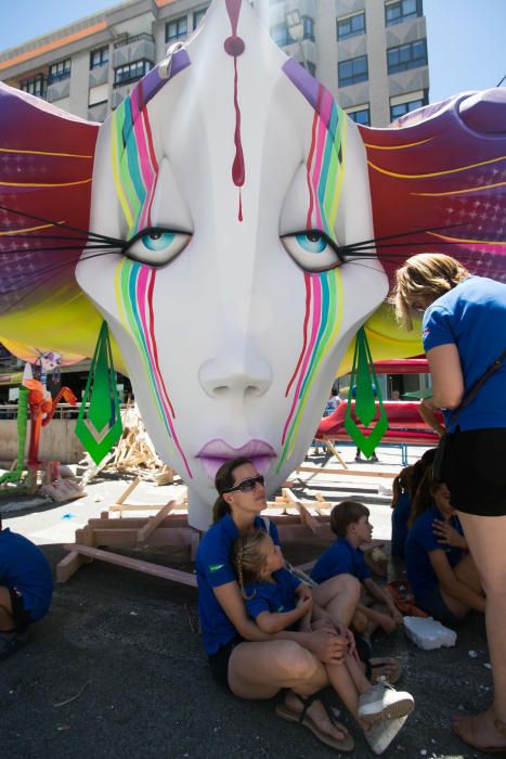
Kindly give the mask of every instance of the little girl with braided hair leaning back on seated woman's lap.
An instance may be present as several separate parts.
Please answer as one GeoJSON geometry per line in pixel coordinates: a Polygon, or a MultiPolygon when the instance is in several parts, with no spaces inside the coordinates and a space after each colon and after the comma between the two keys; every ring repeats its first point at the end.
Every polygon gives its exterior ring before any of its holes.
{"type": "MultiPolygon", "coordinates": [[[[311,590],[285,568],[285,559],[278,545],[263,530],[255,530],[237,538],[232,550],[232,561],[237,581],[249,616],[267,633],[297,629],[301,625],[311,630],[312,617],[321,617],[312,600],[311,590]]],[[[325,622],[328,626],[328,620],[325,622]]],[[[337,634],[337,632],[336,632],[337,634]]],[[[332,686],[348,707],[375,754],[381,754],[402,728],[413,709],[411,694],[398,692],[380,682],[372,685],[360,669],[355,656],[342,641],[342,660],[325,664],[332,686]]],[[[276,713],[293,720],[293,712],[277,706],[276,713]]],[[[336,726],[345,737],[340,750],[352,750],[353,741],[346,728],[336,726]]]]}

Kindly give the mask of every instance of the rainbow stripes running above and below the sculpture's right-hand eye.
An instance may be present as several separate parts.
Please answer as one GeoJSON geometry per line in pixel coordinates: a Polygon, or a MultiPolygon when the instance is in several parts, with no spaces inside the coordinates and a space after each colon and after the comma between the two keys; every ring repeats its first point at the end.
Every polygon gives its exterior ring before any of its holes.
{"type": "MultiPolygon", "coordinates": [[[[309,193],[307,229],[320,229],[337,242],[335,226],[345,175],[347,118],[332,94],[304,69],[285,64],[284,70],[314,108],[306,165],[309,193]]],[[[306,272],[304,286],[302,349],[286,388],[285,395],[288,397],[293,393],[293,401],[283,429],[283,451],[277,472],[294,451],[313,382],[339,337],[342,322],[343,288],[339,269],[306,272]]]]}

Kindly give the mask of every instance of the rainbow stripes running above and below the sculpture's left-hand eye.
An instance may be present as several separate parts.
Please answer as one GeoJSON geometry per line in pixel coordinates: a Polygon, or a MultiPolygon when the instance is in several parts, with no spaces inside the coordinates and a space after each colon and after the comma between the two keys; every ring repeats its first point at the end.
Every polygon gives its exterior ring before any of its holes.
{"type": "MultiPolygon", "coordinates": [[[[128,226],[128,237],[153,226],[152,205],[159,170],[143,102],[142,89],[137,88],[112,114],[113,176],[128,226]]],[[[122,259],[116,269],[116,301],[121,323],[138,347],[144,368],[144,382],[172,442],[173,453],[179,452],[187,476],[192,477],[178,440],[173,424],[176,413],[159,365],[153,308],[156,273],[156,269],[145,263],[122,259]]]]}

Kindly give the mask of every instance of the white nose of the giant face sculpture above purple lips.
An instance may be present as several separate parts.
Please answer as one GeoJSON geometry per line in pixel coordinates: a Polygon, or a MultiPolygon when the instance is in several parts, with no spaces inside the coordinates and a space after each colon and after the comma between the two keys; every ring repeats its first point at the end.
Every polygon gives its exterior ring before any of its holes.
{"type": "Polygon", "coordinates": [[[206,361],[198,372],[202,387],[212,398],[220,396],[261,396],[272,383],[269,363],[252,350],[228,346],[206,361]]]}

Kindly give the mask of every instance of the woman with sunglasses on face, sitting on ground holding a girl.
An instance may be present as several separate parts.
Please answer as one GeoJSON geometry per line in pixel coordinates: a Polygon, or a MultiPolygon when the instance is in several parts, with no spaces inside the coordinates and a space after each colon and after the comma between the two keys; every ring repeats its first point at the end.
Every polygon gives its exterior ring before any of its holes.
{"type": "MultiPolygon", "coordinates": [[[[272,698],[286,689],[283,712],[291,721],[309,728],[333,748],[351,750],[348,731],[329,718],[314,694],[328,685],[325,662],[342,662],[349,647],[347,631],[338,626],[345,634],[336,634],[336,626],[328,621],[325,626],[325,615],[327,620],[346,619],[356,605],[359,582],[341,575],[313,591],[315,602],[324,608],[321,629],[274,634],[260,630],[246,614],[232,546],[255,529],[268,530],[273,542],[280,542],[275,525],[259,516],[267,505],[263,476],[249,459],[238,458],[220,467],[215,484],[219,497],[213,525],[196,556],[200,627],[215,680],[241,698],[272,698]]],[[[382,697],[378,691],[376,699],[382,697]]]]}

